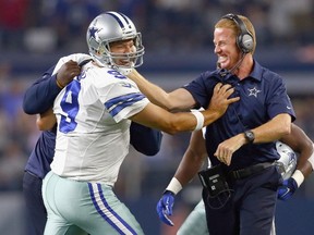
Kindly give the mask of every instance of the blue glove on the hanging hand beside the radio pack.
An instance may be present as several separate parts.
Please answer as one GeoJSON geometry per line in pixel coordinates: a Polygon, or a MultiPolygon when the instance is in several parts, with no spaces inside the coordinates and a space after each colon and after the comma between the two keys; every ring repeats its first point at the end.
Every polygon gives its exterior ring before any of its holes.
{"type": "Polygon", "coordinates": [[[173,203],[174,194],[166,190],[156,207],[159,219],[169,226],[173,226],[173,222],[168,218],[168,215],[172,215],[173,203]]]}

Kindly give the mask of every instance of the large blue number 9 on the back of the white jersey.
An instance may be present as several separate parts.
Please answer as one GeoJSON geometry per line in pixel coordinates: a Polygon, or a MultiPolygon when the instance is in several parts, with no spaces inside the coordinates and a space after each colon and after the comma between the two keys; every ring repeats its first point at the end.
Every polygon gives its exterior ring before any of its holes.
{"type": "Polygon", "coordinates": [[[81,83],[74,79],[67,86],[65,89],[65,94],[60,102],[60,107],[64,113],[61,115],[59,123],[59,131],[62,133],[72,132],[77,126],[75,116],[77,115],[80,109],[78,92],[81,90],[81,83]]]}

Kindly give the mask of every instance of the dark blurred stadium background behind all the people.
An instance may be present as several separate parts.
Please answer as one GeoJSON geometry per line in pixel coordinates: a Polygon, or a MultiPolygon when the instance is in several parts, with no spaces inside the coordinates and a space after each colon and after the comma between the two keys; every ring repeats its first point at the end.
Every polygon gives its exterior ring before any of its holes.
{"type": "MultiPolygon", "coordinates": [[[[227,13],[255,26],[255,59],[281,74],[297,124],[314,139],[313,0],[0,0],[0,231],[25,235],[22,176],[38,137],[36,116],[26,115],[26,87],[60,57],[87,52],[85,33],[102,11],[129,15],[142,33],[146,54],[138,70],[167,90],[214,70],[213,27],[227,13]]],[[[155,157],[132,147],[116,185],[148,235],[172,235],[201,198],[195,178],[174,205],[174,227],[160,224],[155,207],[189,145],[190,134],[164,135],[155,157]],[[128,166],[126,166],[128,165],[128,166]]],[[[277,234],[310,235],[314,225],[314,177],[295,196],[278,202],[277,234]]],[[[228,223],[228,221],[226,221],[228,223]]]]}

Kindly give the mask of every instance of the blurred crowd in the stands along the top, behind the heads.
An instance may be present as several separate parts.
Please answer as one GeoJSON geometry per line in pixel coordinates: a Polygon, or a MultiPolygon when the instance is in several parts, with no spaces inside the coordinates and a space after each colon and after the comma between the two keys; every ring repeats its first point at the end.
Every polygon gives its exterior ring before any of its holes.
{"type": "Polygon", "coordinates": [[[210,27],[226,12],[252,20],[258,47],[301,47],[314,39],[309,30],[314,28],[312,0],[0,0],[0,4],[1,51],[77,51],[85,47],[82,37],[88,22],[108,10],[133,18],[149,51],[212,46],[210,27]]]}

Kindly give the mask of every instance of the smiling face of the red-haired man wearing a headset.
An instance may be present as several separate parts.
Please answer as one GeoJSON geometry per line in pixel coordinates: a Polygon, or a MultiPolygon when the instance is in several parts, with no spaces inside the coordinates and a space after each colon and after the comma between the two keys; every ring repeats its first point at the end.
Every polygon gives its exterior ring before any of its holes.
{"type": "Polygon", "coordinates": [[[230,28],[215,28],[214,46],[214,52],[218,57],[217,63],[221,69],[231,70],[241,58],[234,33],[230,28]]]}

